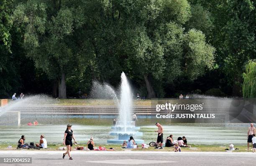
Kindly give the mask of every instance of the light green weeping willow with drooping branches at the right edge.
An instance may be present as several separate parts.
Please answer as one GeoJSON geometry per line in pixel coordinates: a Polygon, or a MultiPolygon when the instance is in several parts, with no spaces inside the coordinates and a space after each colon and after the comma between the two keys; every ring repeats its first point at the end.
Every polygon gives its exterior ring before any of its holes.
{"type": "Polygon", "coordinates": [[[243,97],[256,98],[256,61],[249,60],[243,73],[243,97]]]}

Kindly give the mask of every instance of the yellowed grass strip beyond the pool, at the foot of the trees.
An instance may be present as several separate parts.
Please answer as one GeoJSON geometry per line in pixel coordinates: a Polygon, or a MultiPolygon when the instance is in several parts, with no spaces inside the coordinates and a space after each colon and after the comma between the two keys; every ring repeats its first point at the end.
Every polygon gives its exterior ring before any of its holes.
{"type": "MultiPolygon", "coordinates": [[[[8,99],[8,103],[13,103],[8,99]]],[[[36,104],[36,103],[31,103],[36,104]]],[[[40,103],[41,104],[41,103],[40,103]]],[[[114,106],[117,105],[115,100],[109,99],[52,99],[44,102],[47,105],[83,105],[83,106],[114,106]]],[[[133,100],[135,106],[151,106],[151,100],[133,100]]]]}

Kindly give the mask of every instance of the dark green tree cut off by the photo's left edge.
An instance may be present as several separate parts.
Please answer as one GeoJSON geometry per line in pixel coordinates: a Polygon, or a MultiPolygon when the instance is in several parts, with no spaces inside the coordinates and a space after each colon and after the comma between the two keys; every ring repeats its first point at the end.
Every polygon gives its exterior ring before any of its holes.
{"type": "Polygon", "coordinates": [[[0,1],[0,96],[8,97],[19,86],[15,56],[11,53],[13,0],[0,1]]]}

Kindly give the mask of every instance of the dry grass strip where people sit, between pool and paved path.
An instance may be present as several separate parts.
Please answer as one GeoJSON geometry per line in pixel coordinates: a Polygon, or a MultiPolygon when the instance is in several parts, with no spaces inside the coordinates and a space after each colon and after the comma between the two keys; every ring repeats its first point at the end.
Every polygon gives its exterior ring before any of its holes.
{"type": "MultiPolygon", "coordinates": [[[[83,146],[83,147],[87,147],[86,144],[79,144],[79,146],[83,146]]],[[[125,150],[129,150],[129,151],[173,151],[174,147],[164,147],[164,149],[155,149],[154,147],[149,147],[149,148],[137,148],[137,149],[123,149],[121,148],[121,145],[116,145],[116,144],[95,144],[95,147],[99,147],[99,146],[105,146],[105,148],[109,149],[109,148],[114,148],[115,151],[125,151],[125,150]]],[[[0,150],[16,150],[17,144],[0,144],[0,150]],[[11,145],[13,148],[8,149],[7,146],[11,145]]],[[[49,144],[47,149],[40,149],[41,151],[63,151],[63,150],[59,150],[59,147],[63,147],[63,145],[61,144],[49,144]]],[[[73,146],[74,147],[74,146],[73,146]]],[[[225,152],[225,148],[228,148],[227,146],[223,146],[223,145],[191,145],[191,149],[190,148],[181,148],[182,151],[191,151],[191,152],[225,152]]],[[[239,150],[235,150],[233,152],[252,152],[247,151],[247,145],[243,146],[243,145],[238,145],[235,146],[235,148],[239,148],[239,150]]],[[[27,149],[28,150],[28,149],[27,149]]],[[[36,150],[36,149],[29,149],[29,150],[36,150]]]]}

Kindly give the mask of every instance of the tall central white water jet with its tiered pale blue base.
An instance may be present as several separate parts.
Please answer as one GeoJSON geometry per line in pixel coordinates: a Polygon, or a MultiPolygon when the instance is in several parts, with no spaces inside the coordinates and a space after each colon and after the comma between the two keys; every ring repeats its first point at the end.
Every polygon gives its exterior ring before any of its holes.
{"type": "Polygon", "coordinates": [[[121,86],[120,86],[120,99],[118,102],[118,122],[116,126],[111,127],[113,131],[110,132],[110,135],[116,136],[115,139],[107,140],[108,143],[123,143],[123,141],[128,141],[130,136],[135,137],[136,143],[143,143],[141,139],[136,137],[142,136],[142,132],[138,132],[140,127],[135,127],[131,122],[132,114],[132,94],[131,89],[128,83],[128,80],[125,76],[125,73],[121,74],[121,86]]]}

